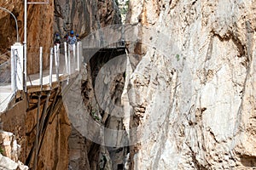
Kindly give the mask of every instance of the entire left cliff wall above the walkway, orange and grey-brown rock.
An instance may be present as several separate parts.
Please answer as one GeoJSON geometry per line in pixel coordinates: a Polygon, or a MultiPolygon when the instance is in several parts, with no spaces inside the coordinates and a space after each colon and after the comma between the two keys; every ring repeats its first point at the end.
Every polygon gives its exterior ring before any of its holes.
{"type": "MultiPolygon", "coordinates": [[[[30,2],[30,1],[28,1],[30,2]]],[[[27,71],[38,72],[39,47],[43,47],[44,68],[49,65],[49,48],[53,47],[54,34],[64,37],[73,29],[82,38],[90,31],[120,22],[115,1],[49,0],[47,4],[27,5],[27,71]]],[[[20,42],[24,41],[24,3],[18,0],[0,2],[0,7],[12,12],[18,22],[20,42]],[[14,5],[15,4],[15,5],[14,5]]],[[[15,20],[0,9],[0,63],[10,58],[10,46],[16,40],[15,20]]]]}

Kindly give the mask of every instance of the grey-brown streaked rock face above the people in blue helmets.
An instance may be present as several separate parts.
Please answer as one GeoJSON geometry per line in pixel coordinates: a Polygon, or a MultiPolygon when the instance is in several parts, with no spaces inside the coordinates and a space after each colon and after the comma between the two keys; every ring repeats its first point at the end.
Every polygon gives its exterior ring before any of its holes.
{"type": "Polygon", "coordinates": [[[73,30],[81,38],[101,27],[120,23],[115,1],[55,1],[55,32],[64,37],[73,30]]]}

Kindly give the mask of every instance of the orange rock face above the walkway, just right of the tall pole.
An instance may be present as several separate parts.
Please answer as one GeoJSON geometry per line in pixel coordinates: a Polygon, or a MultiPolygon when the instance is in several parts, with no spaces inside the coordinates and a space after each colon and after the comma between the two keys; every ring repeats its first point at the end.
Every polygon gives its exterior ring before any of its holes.
{"type": "MultiPolygon", "coordinates": [[[[44,1],[41,1],[44,2],[44,1]]],[[[46,2],[46,1],[45,1],[46,2]]],[[[49,48],[53,46],[54,1],[27,5],[27,71],[39,71],[39,48],[43,47],[44,68],[49,65],[49,48]]],[[[23,33],[22,33],[23,34],[23,33]]]]}

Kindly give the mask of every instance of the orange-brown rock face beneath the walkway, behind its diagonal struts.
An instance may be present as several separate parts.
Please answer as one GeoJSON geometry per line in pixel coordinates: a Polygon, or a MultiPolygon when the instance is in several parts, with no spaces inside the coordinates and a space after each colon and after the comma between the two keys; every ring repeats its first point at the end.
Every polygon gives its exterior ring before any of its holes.
{"type": "MultiPolygon", "coordinates": [[[[49,105],[46,105],[45,102],[40,105],[40,122],[37,121],[38,108],[33,109],[32,104],[28,108],[25,162],[31,168],[67,169],[68,167],[68,138],[71,133],[71,124],[62,100],[57,96],[60,94],[55,89],[50,94],[49,105]],[[44,110],[45,112],[43,112],[44,110]],[[38,150],[38,154],[36,154],[36,150],[38,150]]],[[[37,100],[32,102],[36,103],[37,100]]]]}

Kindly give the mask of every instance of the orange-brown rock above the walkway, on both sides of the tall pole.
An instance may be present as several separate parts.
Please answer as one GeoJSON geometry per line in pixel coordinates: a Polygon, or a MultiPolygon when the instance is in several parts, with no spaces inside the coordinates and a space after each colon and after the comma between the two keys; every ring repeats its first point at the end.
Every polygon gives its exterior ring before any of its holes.
{"type": "MultiPolygon", "coordinates": [[[[28,1],[29,2],[29,1],[28,1]]],[[[20,42],[24,41],[24,3],[23,1],[1,1],[0,6],[8,9],[15,15],[19,27],[20,42]]],[[[13,16],[0,11],[0,52],[5,54],[16,40],[16,25],[13,16]]],[[[49,47],[52,46],[54,23],[54,1],[49,0],[48,4],[27,5],[27,72],[32,74],[38,72],[39,47],[43,47],[44,68],[49,65],[49,47]],[[46,29],[47,28],[47,29],[46,29]]],[[[1,56],[3,58],[4,56],[1,56]]],[[[9,59],[10,54],[4,57],[9,59]]]]}

